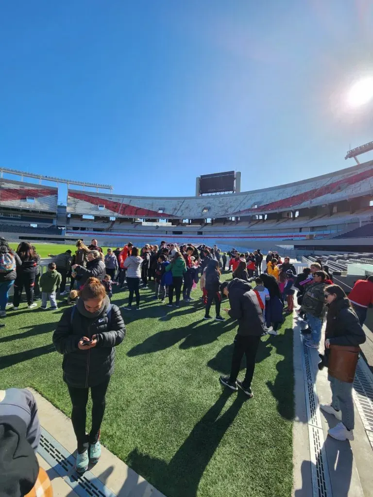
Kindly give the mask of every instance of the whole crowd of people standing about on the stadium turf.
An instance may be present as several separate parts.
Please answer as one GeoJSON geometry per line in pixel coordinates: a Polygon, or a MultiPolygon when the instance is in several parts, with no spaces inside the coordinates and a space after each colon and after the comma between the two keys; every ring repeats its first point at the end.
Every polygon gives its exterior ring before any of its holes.
{"type": "Polygon", "coordinates": [[[62,314],[53,343],[64,355],[63,379],[72,402],[72,423],[78,444],[77,471],[86,471],[89,461],[100,457],[99,430],[113,372],[115,346],[126,333],[121,310],[110,302],[113,288],[128,290],[128,303],[123,310],[140,310],[140,290],[148,289],[152,280],[154,300],[175,308],[180,307],[181,299],[186,304],[195,301],[197,306],[204,306],[206,321],[212,319],[213,303],[215,320],[225,321],[221,304],[222,299],[228,299],[229,308],[224,308],[224,312],[238,322],[238,329],[230,375],[220,376],[220,382],[233,391],[240,388],[249,398],[254,395],[251,384],[261,336],[279,333],[284,316],[295,310],[296,293],[297,319],[303,322],[306,347],[319,349],[322,327],[326,323],[319,368],[328,367],[332,401],[320,408],[340,420],[329,429],[329,434],[338,440],[353,440],[352,384],[359,345],[366,339],[362,325],[368,307],[373,304],[373,276],[358,280],[348,298],[344,290],[334,284],[329,268],[323,266],[321,260],[297,274],[288,256],[282,261],[278,253],[269,252],[264,261],[259,249],[243,253],[232,248],[222,252],[217,246],[185,244],[178,247],[162,241],[160,246],[146,244],[141,249],[128,243],[123,248],[108,248],[104,254],[95,239],[88,247],[79,240],[76,248],[75,254],[66,250],[54,255],[54,262],[37,278],[40,256],[35,247],[21,242],[12,250],[0,239],[0,317],[6,316],[12,285],[12,309],[15,310],[23,287],[28,309],[36,307],[37,291],[41,293],[42,310],[47,308],[48,300],[50,309],[57,309],[57,292],[60,296],[68,295],[67,303],[73,304],[62,314]],[[221,278],[227,271],[232,278],[221,278]],[[66,291],[68,277],[69,292],[66,291]],[[198,282],[202,296],[196,300],[191,295],[198,282]],[[136,305],[132,307],[134,298],[136,305]],[[246,374],[241,381],[238,375],[243,355],[246,356],[246,374]],[[85,420],[90,389],[92,428],[87,435],[85,420]]]}

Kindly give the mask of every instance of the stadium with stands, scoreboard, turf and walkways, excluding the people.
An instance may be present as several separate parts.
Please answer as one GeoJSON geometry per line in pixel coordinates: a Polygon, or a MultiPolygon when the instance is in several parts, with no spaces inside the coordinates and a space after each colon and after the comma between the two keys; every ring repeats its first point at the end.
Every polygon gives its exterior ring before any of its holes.
{"type": "MultiPolygon", "coordinates": [[[[49,252],[75,251],[78,240],[89,245],[93,239],[102,248],[161,241],[217,245],[221,251],[260,248],[288,255],[297,273],[316,261],[329,266],[346,293],[373,274],[373,161],[260,190],[241,192],[240,184],[241,174],[228,171],[198,177],[194,196],[145,197],[114,193],[109,184],[0,168],[0,237],[13,248],[20,241],[35,244],[41,274],[57,261],[46,257],[49,252]]],[[[230,269],[220,279],[231,281],[230,269]]],[[[219,383],[219,375],[230,371],[236,321],[229,315],[220,316],[221,323],[206,321],[199,286],[181,305],[165,305],[155,287],[153,281],[141,287],[140,312],[122,313],[127,334],[116,347],[99,432],[102,457],[84,474],[75,471],[76,439],[66,417],[72,416],[71,400],[62,381],[62,356],[52,344],[69,312],[64,297],[69,292],[60,288],[56,307],[21,300],[19,307],[9,303],[1,316],[6,318],[1,385],[31,389],[41,422],[38,457],[57,495],[290,496],[300,488],[302,496],[342,495],[341,488],[350,488],[346,496],[368,495],[363,491],[371,487],[373,454],[371,309],[354,381],[360,415],[355,429],[365,445],[352,446],[352,462],[347,442],[335,454],[328,444],[329,425],[319,409],[330,397],[327,373],[319,372],[319,350],[307,348],[304,323],[295,312],[281,311],[280,329],[262,335],[255,399],[245,403],[242,392],[231,395],[219,383]]],[[[9,294],[12,299],[13,288],[9,294]]],[[[111,298],[119,313],[128,311],[129,285],[113,287],[111,298]]]]}

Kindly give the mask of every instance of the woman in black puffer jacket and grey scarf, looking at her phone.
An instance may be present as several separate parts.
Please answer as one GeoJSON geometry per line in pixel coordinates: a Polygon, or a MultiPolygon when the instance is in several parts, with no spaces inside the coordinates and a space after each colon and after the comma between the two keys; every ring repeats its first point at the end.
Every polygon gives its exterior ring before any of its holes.
{"type": "Polygon", "coordinates": [[[53,344],[61,354],[63,379],[73,404],[71,420],[78,442],[76,469],[83,473],[89,457],[101,455],[99,431],[105,411],[105,394],[114,371],[114,347],[125,336],[119,308],[110,304],[105,288],[97,278],[89,278],[78,303],[63,313],[53,344]],[[92,397],[92,428],[86,435],[86,407],[89,389],[92,397]],[[88,454],[90,449],[90,455],[88,454]]]}

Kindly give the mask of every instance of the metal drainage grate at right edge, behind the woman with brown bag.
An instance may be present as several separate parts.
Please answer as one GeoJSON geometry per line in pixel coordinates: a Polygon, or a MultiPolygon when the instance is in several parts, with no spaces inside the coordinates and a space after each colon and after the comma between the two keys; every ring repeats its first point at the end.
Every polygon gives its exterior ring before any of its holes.
{"type": "Polygon", "coordinates": [[[371,372],[360,358],[354,380],[354,401],[373,449],[373,381],[371,372]]]}

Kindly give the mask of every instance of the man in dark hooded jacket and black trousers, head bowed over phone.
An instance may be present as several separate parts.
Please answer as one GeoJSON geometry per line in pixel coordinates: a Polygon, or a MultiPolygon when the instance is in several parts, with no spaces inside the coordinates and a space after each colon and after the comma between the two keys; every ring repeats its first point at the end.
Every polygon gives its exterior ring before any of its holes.
{"type": "Polygon", "coordinates": [[[234,339],[232,367],[230,376],[220,376],[220,382],[231,390],[240,387],[248,397],[253,397],[251,382],[255,369],[255,356],[264,331],[262,309],[257,294],[249,283],[235,278],[220,286],[223,295],[229,298],[230,309],[225,309],[229,316],[238,321],[238,330],[234,339]],[[246,355],[246,375],[244,381],[237,380],[241,360],[246,355]]]}

